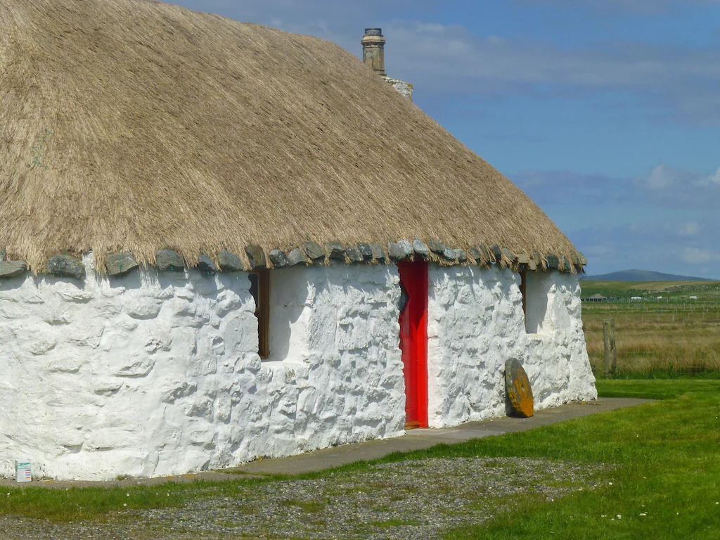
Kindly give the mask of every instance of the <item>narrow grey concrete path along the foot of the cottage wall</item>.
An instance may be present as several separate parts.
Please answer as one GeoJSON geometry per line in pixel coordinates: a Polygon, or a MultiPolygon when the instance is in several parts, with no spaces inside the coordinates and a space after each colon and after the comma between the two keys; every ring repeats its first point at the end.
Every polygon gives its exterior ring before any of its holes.
{"type": "Polygon", "coordinates": [[[455,428],[413,429],[404,436],[381,441],[346,444],[317,450],[300,456],[279,459],[259,459],[258,461],[217,471],[183,474],[174,477],[112,480],[109,482],[69,482],[40,480],[18,484],[11,479],[0,480],[5,487],[48,487],[66,489],[68,487],[129,487],[133,485],[154,485],[163,482],[197,482],[202,480],[237,480],[243,477],[258,477],[267,474],[302,474],[320,471],[330,467],[339,467],[361,460],[378,459],[395,451],[410,451],[430,448],[436,444],[456,444],[472,438],[502,435],[513,431],[526,431],[539,426],[580,418],[595,413],[604,413],[624,407],[633,407],[652,402],[621,397],[601,397],[596,401],[572,402],[559,407],[538,410],[531,418],[493,418],[482,422],[470,422],[455,428]]]}

